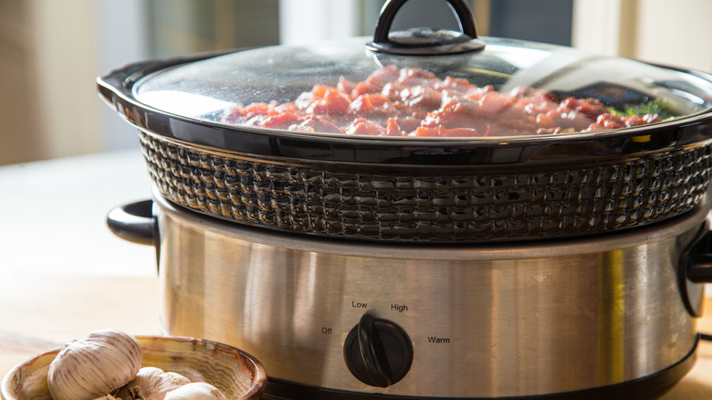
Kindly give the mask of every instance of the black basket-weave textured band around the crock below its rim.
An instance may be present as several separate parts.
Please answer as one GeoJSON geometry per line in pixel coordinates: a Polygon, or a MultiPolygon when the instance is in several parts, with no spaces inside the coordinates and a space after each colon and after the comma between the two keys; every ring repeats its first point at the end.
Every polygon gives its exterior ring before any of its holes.
{"type": "Polygon", "coordinates": [[[140,131],[162,195],[253,226],[391,241],[570,237],[641,226],[699,203],[709,146],[547,173],[360,174],[213,153],[140,131]]]}

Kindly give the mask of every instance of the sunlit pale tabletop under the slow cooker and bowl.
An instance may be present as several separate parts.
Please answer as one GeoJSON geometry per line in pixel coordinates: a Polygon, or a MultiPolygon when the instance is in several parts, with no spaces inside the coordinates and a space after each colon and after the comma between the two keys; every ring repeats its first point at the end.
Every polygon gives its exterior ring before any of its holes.
{"type": "MultiPolygon", "coordinates": [[[[112,206],[150,196],[138,151],[0,167],[0,187],[0,376],[98,329],[161,333],[152,247],[113,237],[104,222],[112,206]]],[[[712,332],[712,298],[700,331],[712,332]]],[[[662,397],[704,398],[712,342],[662,397]]]]}

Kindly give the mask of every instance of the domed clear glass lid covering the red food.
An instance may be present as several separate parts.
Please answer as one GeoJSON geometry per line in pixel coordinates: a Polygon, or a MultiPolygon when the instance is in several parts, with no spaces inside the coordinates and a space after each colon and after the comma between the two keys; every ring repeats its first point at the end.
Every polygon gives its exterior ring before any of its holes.
{"type": "Polygon", "coordinates": [[[133,96],[159,111],[236,129],[371,138],[602,132],[712,107],[712,82],[702,74],[571,47],[480,39],[484,48],[455,54],[389,54],[374,49],[371,37],[238,51],[153,73],[134,85],[133,96]]]}

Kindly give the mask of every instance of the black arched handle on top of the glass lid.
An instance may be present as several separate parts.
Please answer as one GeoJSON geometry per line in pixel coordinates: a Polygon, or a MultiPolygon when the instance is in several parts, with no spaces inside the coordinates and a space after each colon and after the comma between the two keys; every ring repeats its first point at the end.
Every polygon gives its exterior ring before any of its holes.
{"type": "Polygon", "coordinates": [[[403,56],[443,56],[480,51],[485,42],[477,38],[475,16],[465,0],[445,0],[455,12],[461,32],[414,27],[391,32],[393,18],[408,0],[388,0],[376,22],[373,41],[367,47],[376,53],[403,56]]]}

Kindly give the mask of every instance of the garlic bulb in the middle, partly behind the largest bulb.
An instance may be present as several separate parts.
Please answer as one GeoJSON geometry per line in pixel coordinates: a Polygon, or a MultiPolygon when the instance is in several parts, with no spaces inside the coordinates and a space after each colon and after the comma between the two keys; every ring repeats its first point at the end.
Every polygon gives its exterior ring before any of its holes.
{"type": "Polygon", "coordinates": [[[190,384],[181,374],[164,373],[155,367],[143,367],[136,377],[114,394],[123,400],[163,400],[163,397],[184,384],[190,384]]]}

